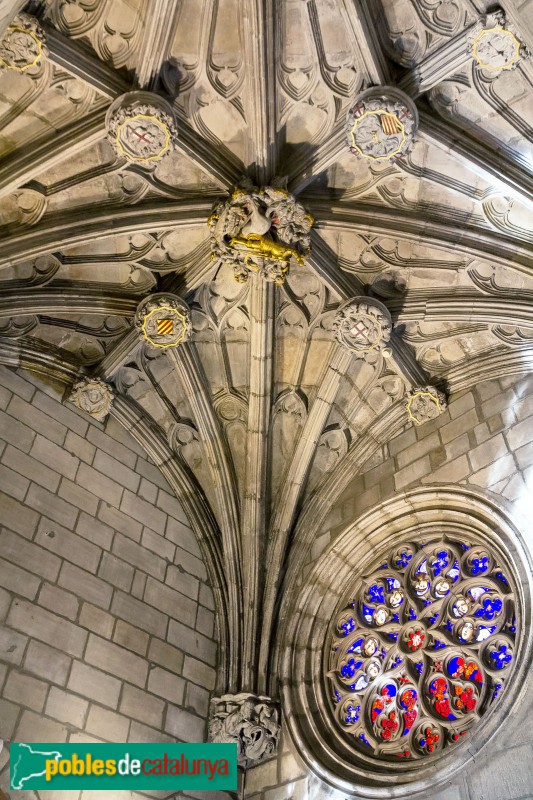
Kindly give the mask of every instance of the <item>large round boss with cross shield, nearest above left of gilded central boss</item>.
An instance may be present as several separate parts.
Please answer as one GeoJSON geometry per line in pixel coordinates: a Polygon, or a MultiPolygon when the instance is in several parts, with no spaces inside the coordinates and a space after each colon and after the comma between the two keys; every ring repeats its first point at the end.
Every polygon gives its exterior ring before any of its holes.
{"type": "Polygon", "coordinates": [[[168,155],[178,136],[170,105],[149,92],[129,92],[117,98],[107,117],[108,138],[119,156],[150,165],[168,155]]]}

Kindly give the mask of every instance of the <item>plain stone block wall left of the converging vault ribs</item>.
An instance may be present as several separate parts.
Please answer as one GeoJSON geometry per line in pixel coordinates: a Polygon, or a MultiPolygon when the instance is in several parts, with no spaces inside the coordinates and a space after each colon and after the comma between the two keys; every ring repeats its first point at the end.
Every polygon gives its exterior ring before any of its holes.
{"type": "Polygon", "coordinates": [[[114,420],[6,367],[0,396],[0,738],[203,739],[213,596],[172,490],[114,420]]]}

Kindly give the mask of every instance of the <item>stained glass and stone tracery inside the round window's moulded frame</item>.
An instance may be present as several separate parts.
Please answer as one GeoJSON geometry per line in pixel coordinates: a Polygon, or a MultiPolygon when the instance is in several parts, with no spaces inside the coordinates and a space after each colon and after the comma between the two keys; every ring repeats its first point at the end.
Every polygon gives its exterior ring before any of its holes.
{"type": "Polygon", "coordinates": [[[385,761],[449,748],[498,702],[516,636],[511,576],[485,545],[406,542],[336,617],[327,653],[336,722],[385,761]]]}

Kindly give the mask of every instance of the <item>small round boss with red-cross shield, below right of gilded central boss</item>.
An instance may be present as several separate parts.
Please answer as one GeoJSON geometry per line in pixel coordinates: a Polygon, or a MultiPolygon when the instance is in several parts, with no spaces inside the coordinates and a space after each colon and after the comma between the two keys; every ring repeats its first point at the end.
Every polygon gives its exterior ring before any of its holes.
{"type": "Polygon", "coordinates": [[[356,297],[337,310],[333,331],[339,344],[364,358],[371,351],[385,351],[392,322],[383,303],[371,297],[356,297]]]}

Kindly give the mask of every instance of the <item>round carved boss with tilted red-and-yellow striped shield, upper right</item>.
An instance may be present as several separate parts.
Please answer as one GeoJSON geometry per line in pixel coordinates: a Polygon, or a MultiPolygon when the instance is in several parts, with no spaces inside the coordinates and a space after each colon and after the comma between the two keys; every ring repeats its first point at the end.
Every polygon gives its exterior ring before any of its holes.
{"type": "Polygon", "coordinates": [[[394,161],[407,152],[418,112],[406,94],[391,86],[367,89],[348,111],[348,145],[354,155],[394,161]]]}

